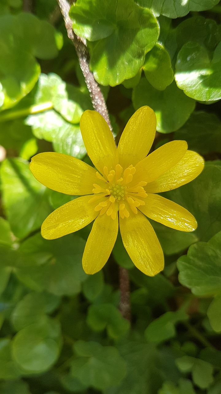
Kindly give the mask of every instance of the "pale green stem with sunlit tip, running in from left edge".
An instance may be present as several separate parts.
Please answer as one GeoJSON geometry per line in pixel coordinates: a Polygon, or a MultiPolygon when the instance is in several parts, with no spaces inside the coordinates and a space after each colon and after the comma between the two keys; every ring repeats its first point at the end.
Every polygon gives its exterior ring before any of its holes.
{"type": "Polygon", "coordinates": [[[44,112],[51,110],[53,108],[52,102],[44,102],[42,104],[32,105],[28,108],[23,108],[22,110],[8,111],[7,113],[0,114],[0,123],[5,121],[10,121],[17,118],[22,118],[34,113],[44,112]]]}

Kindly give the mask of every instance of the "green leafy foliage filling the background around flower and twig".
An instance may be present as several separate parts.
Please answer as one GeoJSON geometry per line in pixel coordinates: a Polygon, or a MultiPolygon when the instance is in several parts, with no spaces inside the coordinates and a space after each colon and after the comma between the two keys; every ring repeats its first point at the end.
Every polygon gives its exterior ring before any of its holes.
{"type": "Polygon", "coordinates": [[[147,105],[152,150],[185,140],[206,162],[164,193],[198,227],[151,221],[165,269],[147,277],[120,232],[95,275],[82,268],[92,224],[42,238],[44,219],[75,197],[40,184],[30,158],[55,151],[92,165],[79,121],[93,107],[56,0],[31,1],[31,12],[25,1],[0,3],[0,392],[220,394],[221,4],[77,0],[70,10],[116,141],[147,105]],[[129,271],[131,323],[119,310],[119,267],[129,271]]]}

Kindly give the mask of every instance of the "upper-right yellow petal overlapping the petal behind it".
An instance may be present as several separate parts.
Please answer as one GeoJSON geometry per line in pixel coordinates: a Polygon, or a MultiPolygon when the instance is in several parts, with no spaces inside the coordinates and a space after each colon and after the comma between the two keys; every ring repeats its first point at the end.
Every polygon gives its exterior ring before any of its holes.
{"type": "Polygon", "coordinates": [[[135,166],[133,182],[152,182],[176,165],[186,151],[186,141],[170,141],[162,145],[135,166]]]}

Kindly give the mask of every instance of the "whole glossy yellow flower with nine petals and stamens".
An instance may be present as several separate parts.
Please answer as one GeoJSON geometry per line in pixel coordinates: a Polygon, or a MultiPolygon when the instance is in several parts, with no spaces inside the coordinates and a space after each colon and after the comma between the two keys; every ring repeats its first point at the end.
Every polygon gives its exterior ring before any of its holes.
{"type": "Polygon", "coordinates": [[[164,256],[147,217],[181,231],[193,231],[197,223],[186,209],[155,193],[178,188],[197,177],[203,158],[187,151],[185,141],[168,142],[147,156],[156,132],[155,113],[147,106],[128,121],[118,148],[98,112],[85,111],[80,127],[96,169],[61,153],[45,152],[32,158],[30,169],[39,182],[52,190],[81,196],[45,219],[42,236],[59,238],[95,219],[82,259],[85,272],[93,274],[110,256],[119,212],[127,253],[142,272],[156,275],[164,268],[164,256]]]}

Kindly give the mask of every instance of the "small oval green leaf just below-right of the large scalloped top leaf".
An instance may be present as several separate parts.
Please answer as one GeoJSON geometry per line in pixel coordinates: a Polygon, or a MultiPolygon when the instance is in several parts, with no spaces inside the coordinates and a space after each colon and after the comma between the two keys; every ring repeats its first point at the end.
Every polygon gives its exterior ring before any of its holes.
{"type": "Polygon", "coordinates": [[[146,54],[143,70],[148,82],[158,90],[165,90],[173,82],[170,57],[163,45],[156,44],[146,54]]]}

